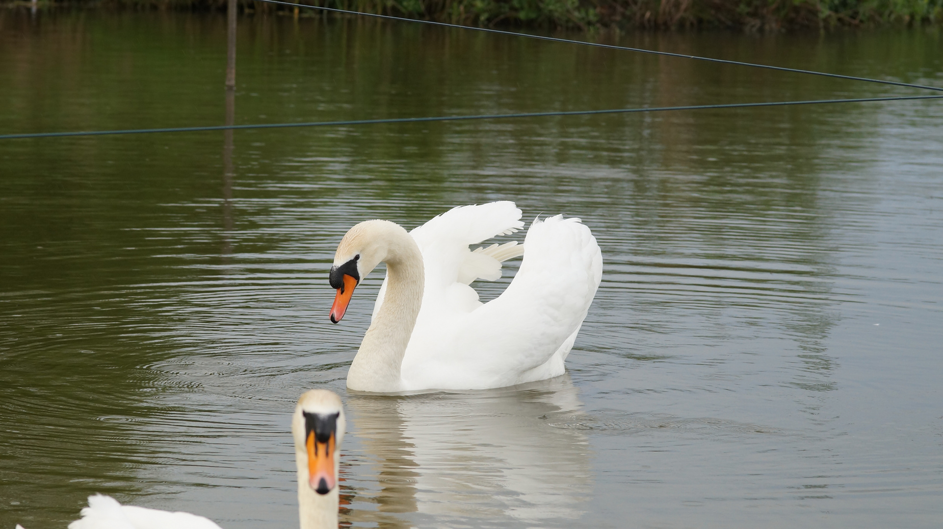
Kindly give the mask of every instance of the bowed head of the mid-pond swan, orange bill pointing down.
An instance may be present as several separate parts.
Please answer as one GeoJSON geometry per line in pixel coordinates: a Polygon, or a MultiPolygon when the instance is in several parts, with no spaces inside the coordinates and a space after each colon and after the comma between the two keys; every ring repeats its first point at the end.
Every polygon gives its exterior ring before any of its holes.
{"type": "Polygon", "coordinates": [[[356,285],[377,264],[387,261],[390,245],[402,240],[403,234],[406,231],[395,222],[365,220],[348,230],[344,238],[340,239],[330,274],[331,287],[338,290],[331,307],[332,322],[338,323],[344,317],[356,285]]]}

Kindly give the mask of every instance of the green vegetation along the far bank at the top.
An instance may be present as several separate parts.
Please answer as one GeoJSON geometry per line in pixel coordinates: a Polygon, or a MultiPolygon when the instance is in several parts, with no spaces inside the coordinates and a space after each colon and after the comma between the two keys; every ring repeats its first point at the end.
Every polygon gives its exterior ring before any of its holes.
{"type": "MultiPolygon", "coordinates": [[[[289,0],[290,1],[290,0],[289,0]]],[[[300,0],[328,8],[452,24],[564,28],[730,28],[779,31],[943,23],[943,0],[300,0]]],[[[221,9],[225,0],[42,0],[45,5],[221,9]]],[[[23,0],[0,3],[24,4],[23,0]]],[[[239,0],[246,13],[293,8],[239,0]]],[[[311,13],[304,13],[310,15],[311,13]]]]}

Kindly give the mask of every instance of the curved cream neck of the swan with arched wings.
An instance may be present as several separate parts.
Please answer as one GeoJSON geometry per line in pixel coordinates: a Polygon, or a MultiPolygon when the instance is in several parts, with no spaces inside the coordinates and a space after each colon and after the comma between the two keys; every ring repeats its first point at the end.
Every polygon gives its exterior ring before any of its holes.
{"type": "Polygon", "coordinates": [[[352,390],[402,391],[400,368],[422,306],[422,252],[408,232],[389,224],[389,229],[376,234],[389,245],[382,259],[387,264],[387,293],[347,373],[347,387],[352,390]]]}

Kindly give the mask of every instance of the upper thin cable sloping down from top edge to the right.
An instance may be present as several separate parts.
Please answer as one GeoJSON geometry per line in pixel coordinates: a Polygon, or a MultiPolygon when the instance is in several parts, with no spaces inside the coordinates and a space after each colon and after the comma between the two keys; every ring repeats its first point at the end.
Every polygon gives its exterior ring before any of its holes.
{"type": "Polygon", "coordinates": [[[609,50],[622,50],[626,52],[638,52],[642,54],[653,54],[656,56],[675,56],[682,58],[693,58],[697,60],[706,60],[709,62],[719,62],[722,64],[734,64],[737,66],[752,66],[753,68],[766,68],[768,70],[776,70],[778,72],[793,72],[793,73],[806,73],[809,75],[821,75],[823,77],[835,77],[836,79],[850,79],[852,81],[866,81],[868,83],[881,83],[883,85],[894,85],[897,87],[909,87],[909,88],[923,88],[927,90],[936,90],[943,91],[943,88],[940,87],[928,87],[926,85],[914,85],[911,83],[901,83],[898,81],[885,81],[883,79],[870,79],[868,77],[855,77],[853,75],[841,75],[839,73],[827,73],[827,72],[815,72],[812,70],[800,70],[797,68],[786,68],[783,66],[769,66],[768,64],[756,64],[753,62],[741,62],[738,60],[726,60],[722,58],[711,58],[704,56],[688,56],[684,54],[672,54],[670,52],[658,52],[655,50],[646,50],[644,48],[630,48],[627,46],[615,46],[612,44],[600,44],[597,42],[587,42],[586,40],[569,40],[569,39],[557,39],[555,37],[543,37],[540,35],[529,35],[527,33],[518,33],[515,31],[503,31],[501,29],[491,29],[488,27],[474,27],[472,25],[461,25],[461,24],[447,24],[444,22],[432,22],[427,20],[419,19],[407,19],[403,17],[393,17],[389,15],[379,15],[375,13],[365,13],[363,11],[350,11],[347,9],[337,9],[337,8],[323,8],[321,6],[308,6],[306,4],[292,4],[290,2],[283,2],[281,0],[258,0],[259,2],[268,2],[270,4],[280,4],[282,6],[293,6],[296,8],[311,8],[311,9],[321,9],[323,11],[331,11],[335,13],[347,13],[352,15],[360,15],[365,17],[374,17],[386,20],[395,20],[401,22],[415,22],[419,24],[430,24],[430,25],[439,25],[442,27],[457,27],[461,29],[471,29],[473,31],[484,31],[486,33],[497,33],[499,35],[512,35],[514,37],[526,37],[528,39],[538,39],[538,40],[550,40],[553,42],[566,42],[569,44],[583,44],[585,46],[594,46],[597,48],[606,48],[609,50]]]}

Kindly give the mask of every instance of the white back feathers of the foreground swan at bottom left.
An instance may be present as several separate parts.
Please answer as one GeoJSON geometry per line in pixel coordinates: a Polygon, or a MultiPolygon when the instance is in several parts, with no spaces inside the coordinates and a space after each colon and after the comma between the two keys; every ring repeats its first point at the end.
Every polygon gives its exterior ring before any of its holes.
{"type": "Polygon", "coordinates": [[[170,512],[135,505],[121,505],[103,494],[89,496],[82,518],[69,529],[221,529],[207,518],[189,512],[170,512]]]}

